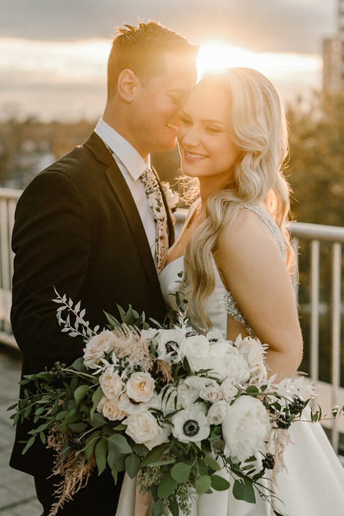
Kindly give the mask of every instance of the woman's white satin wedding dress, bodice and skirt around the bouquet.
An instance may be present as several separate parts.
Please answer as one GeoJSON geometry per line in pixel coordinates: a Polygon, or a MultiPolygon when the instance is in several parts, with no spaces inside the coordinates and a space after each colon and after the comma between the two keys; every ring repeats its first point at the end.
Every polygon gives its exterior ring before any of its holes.
{"type": "MultiPolygon", "coordinates": [[[[283,241],[271,219],[257,206],[246,205],[245,208],[254,211],[267,224],[285,256],[283,241]]],[[[192,216],[190,212],[187,221],[192,216]]],[[[218,330],[225,336],[229,313],[252,334],[243,314],[236,307],[233,295],[226,291],[214,260],[212,260],[212,266],[216,278],[215,288],[205,305],[212,322],[212,330],[218,330]]],[[[173,294],[180,288],[180,283],[177,283],[180,278],[177,275],[183,270],[184,259],[181,256],[167,265],[160,275],[163,297],[166,304],[173,309],[176,308],[173,294]]],[[[343,516],[344,468],[321,425],[307,422],[294,423],[290,427],[290,439],[291,443],[287,446],[284,456],[286,469],[278,475],[278,486],[275,489],[277,497],[284,505],[277,502],[277,508],[287,516],[343,516]]],[[[232,478],[225,470],[221,470],[218,474],[227,478],[233,485],[232,478]]],[[[126,476],[116,516],[134,516],[134,500],[135,485],[126,476]]],[[[270,516],[270,514],[270,505],[263,502],[258,493],[256,493],[256,504],[249,504],[235,499],[231,487],[227,491],[194,495],[191,516],[270,516]]]]}

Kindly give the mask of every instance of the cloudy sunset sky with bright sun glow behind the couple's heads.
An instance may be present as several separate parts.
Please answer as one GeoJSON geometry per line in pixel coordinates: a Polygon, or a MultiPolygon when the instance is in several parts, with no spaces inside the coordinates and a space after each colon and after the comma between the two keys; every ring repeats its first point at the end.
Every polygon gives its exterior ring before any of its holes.
{"type": "Polygon", "coordinates": [[[337,0],[0,0],[2,118],[96,119],[113,27],[157,20],[200,45],[199,74],[248,66],[284,102],[320,89],[337,0]]]}

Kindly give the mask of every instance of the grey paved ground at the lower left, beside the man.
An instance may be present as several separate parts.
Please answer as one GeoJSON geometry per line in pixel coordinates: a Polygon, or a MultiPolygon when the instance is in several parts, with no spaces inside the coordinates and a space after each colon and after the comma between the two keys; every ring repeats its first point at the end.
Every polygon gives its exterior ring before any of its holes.
{"type": "Polygon", "coordinates": [[[7,412],[19,396],[21,354],[0,344],[0,514],[1,516],[40,516],[42,506],[36,498],[34,479],[9,465],[14,428],[7,412]]]}

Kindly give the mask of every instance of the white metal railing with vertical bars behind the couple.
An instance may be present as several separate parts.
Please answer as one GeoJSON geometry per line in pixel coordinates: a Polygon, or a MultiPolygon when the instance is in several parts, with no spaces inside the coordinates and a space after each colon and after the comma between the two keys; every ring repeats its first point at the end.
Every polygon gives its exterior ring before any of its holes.
{"type": "MultiPolygon", "coordinates": [[[[15,345],[10,326],[11,278],[13,253],[10,236],[14,222],[15,205],[22,190],[0,188],[0,342],[15,345]]],[[[181,230],[187,210],[178,208],[176,234],[181,230]]],[[[292,222],[293,245],[299,250],[299,239],[310,246],[310,377],[315,381],[321,407],[330,412],[334,405],[344,404],[344,389],[340,388],[340,321],[341,321],[341,244],[344,243],[344,228],[292,222]],[[332,244],[331,267],[331,326],[332,326],[332,378],[331,383],[320,382],[319,374],[319,270],[320,242],[332,244]]],[[[297,281],[295,285],[297,286],[297,281]]],[[[338,452],[339,433],[344,434],[344,417],[330,422],[332,444],[338,452]]],[[[328,425],[329,423],[327,423],[328,425]]]]}

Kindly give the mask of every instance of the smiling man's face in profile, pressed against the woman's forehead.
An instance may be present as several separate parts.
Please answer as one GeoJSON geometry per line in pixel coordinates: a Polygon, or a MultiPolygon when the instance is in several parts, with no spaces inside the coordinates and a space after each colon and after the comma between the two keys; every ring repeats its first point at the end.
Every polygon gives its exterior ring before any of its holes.
{"type": "Polygon", "coordinates": [[[159,75],[139,85],[134,100],[134,138],[142,156],[176,145],[181,110],[196,82],[195,62],[173,53],[162,57],[159,75]]]}

